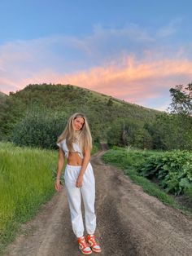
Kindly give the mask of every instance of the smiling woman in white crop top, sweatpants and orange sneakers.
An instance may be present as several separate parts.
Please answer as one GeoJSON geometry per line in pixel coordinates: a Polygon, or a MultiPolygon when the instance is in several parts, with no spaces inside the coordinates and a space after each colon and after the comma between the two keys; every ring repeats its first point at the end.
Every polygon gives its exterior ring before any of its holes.
{"type": "Polygon", "coordinates": [[[85,115],[75,113],[68,119],[68,124],[59,136],[59,161],[55,189],[61,190],[60,176],[65,158],[68,164],[64,180],[68,194],[68,205],[71,212],[72,230],[77,237],[79,249],[83,254],[101,252],[95,241],[96,216],[94,213],[95,182],[94,172],[89,162],[92,148],[92,138],[85,115]],[[85,205],[85,226],[81,214],[81,195],[85,205]]]}

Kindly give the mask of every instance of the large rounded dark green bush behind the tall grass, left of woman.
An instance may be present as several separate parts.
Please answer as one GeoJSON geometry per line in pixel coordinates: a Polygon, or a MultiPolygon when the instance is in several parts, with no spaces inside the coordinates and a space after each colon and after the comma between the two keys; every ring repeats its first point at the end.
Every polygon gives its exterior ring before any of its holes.
{"type": "Polygon", "coordinates": [[[67,120],[65,113],[27,113],[15,126],[11,140],[19,146],[55,149],[67,120]]]}

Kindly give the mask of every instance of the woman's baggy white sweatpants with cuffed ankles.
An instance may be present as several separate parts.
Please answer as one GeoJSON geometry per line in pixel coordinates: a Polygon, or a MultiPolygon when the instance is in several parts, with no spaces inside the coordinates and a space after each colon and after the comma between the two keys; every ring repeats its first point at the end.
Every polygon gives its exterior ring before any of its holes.
{"type": "Polygon", "coordinates": [[[81,214],[81,195],[85,206],[85,226],[88,234],[94,234],[96,216],[94,214],[95,182],[94,171],[89,163],[83,175],[81,188],[76,188],[76,179],[81,171],[81,166],[66,166],[64,179],[68,193],[68,205],[71,212],[72,230],[76,237],[84,235],[84,225],[81,214]]]}

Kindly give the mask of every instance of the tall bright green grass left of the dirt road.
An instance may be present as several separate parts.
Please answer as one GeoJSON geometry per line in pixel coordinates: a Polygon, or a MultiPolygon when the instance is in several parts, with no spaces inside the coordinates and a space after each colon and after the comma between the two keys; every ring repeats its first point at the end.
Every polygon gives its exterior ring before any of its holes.
{"type": "Polygon", "coordinates": [[[0,253],[15,232],[55,192],[57,154],[0,143],[0,253]]]}

